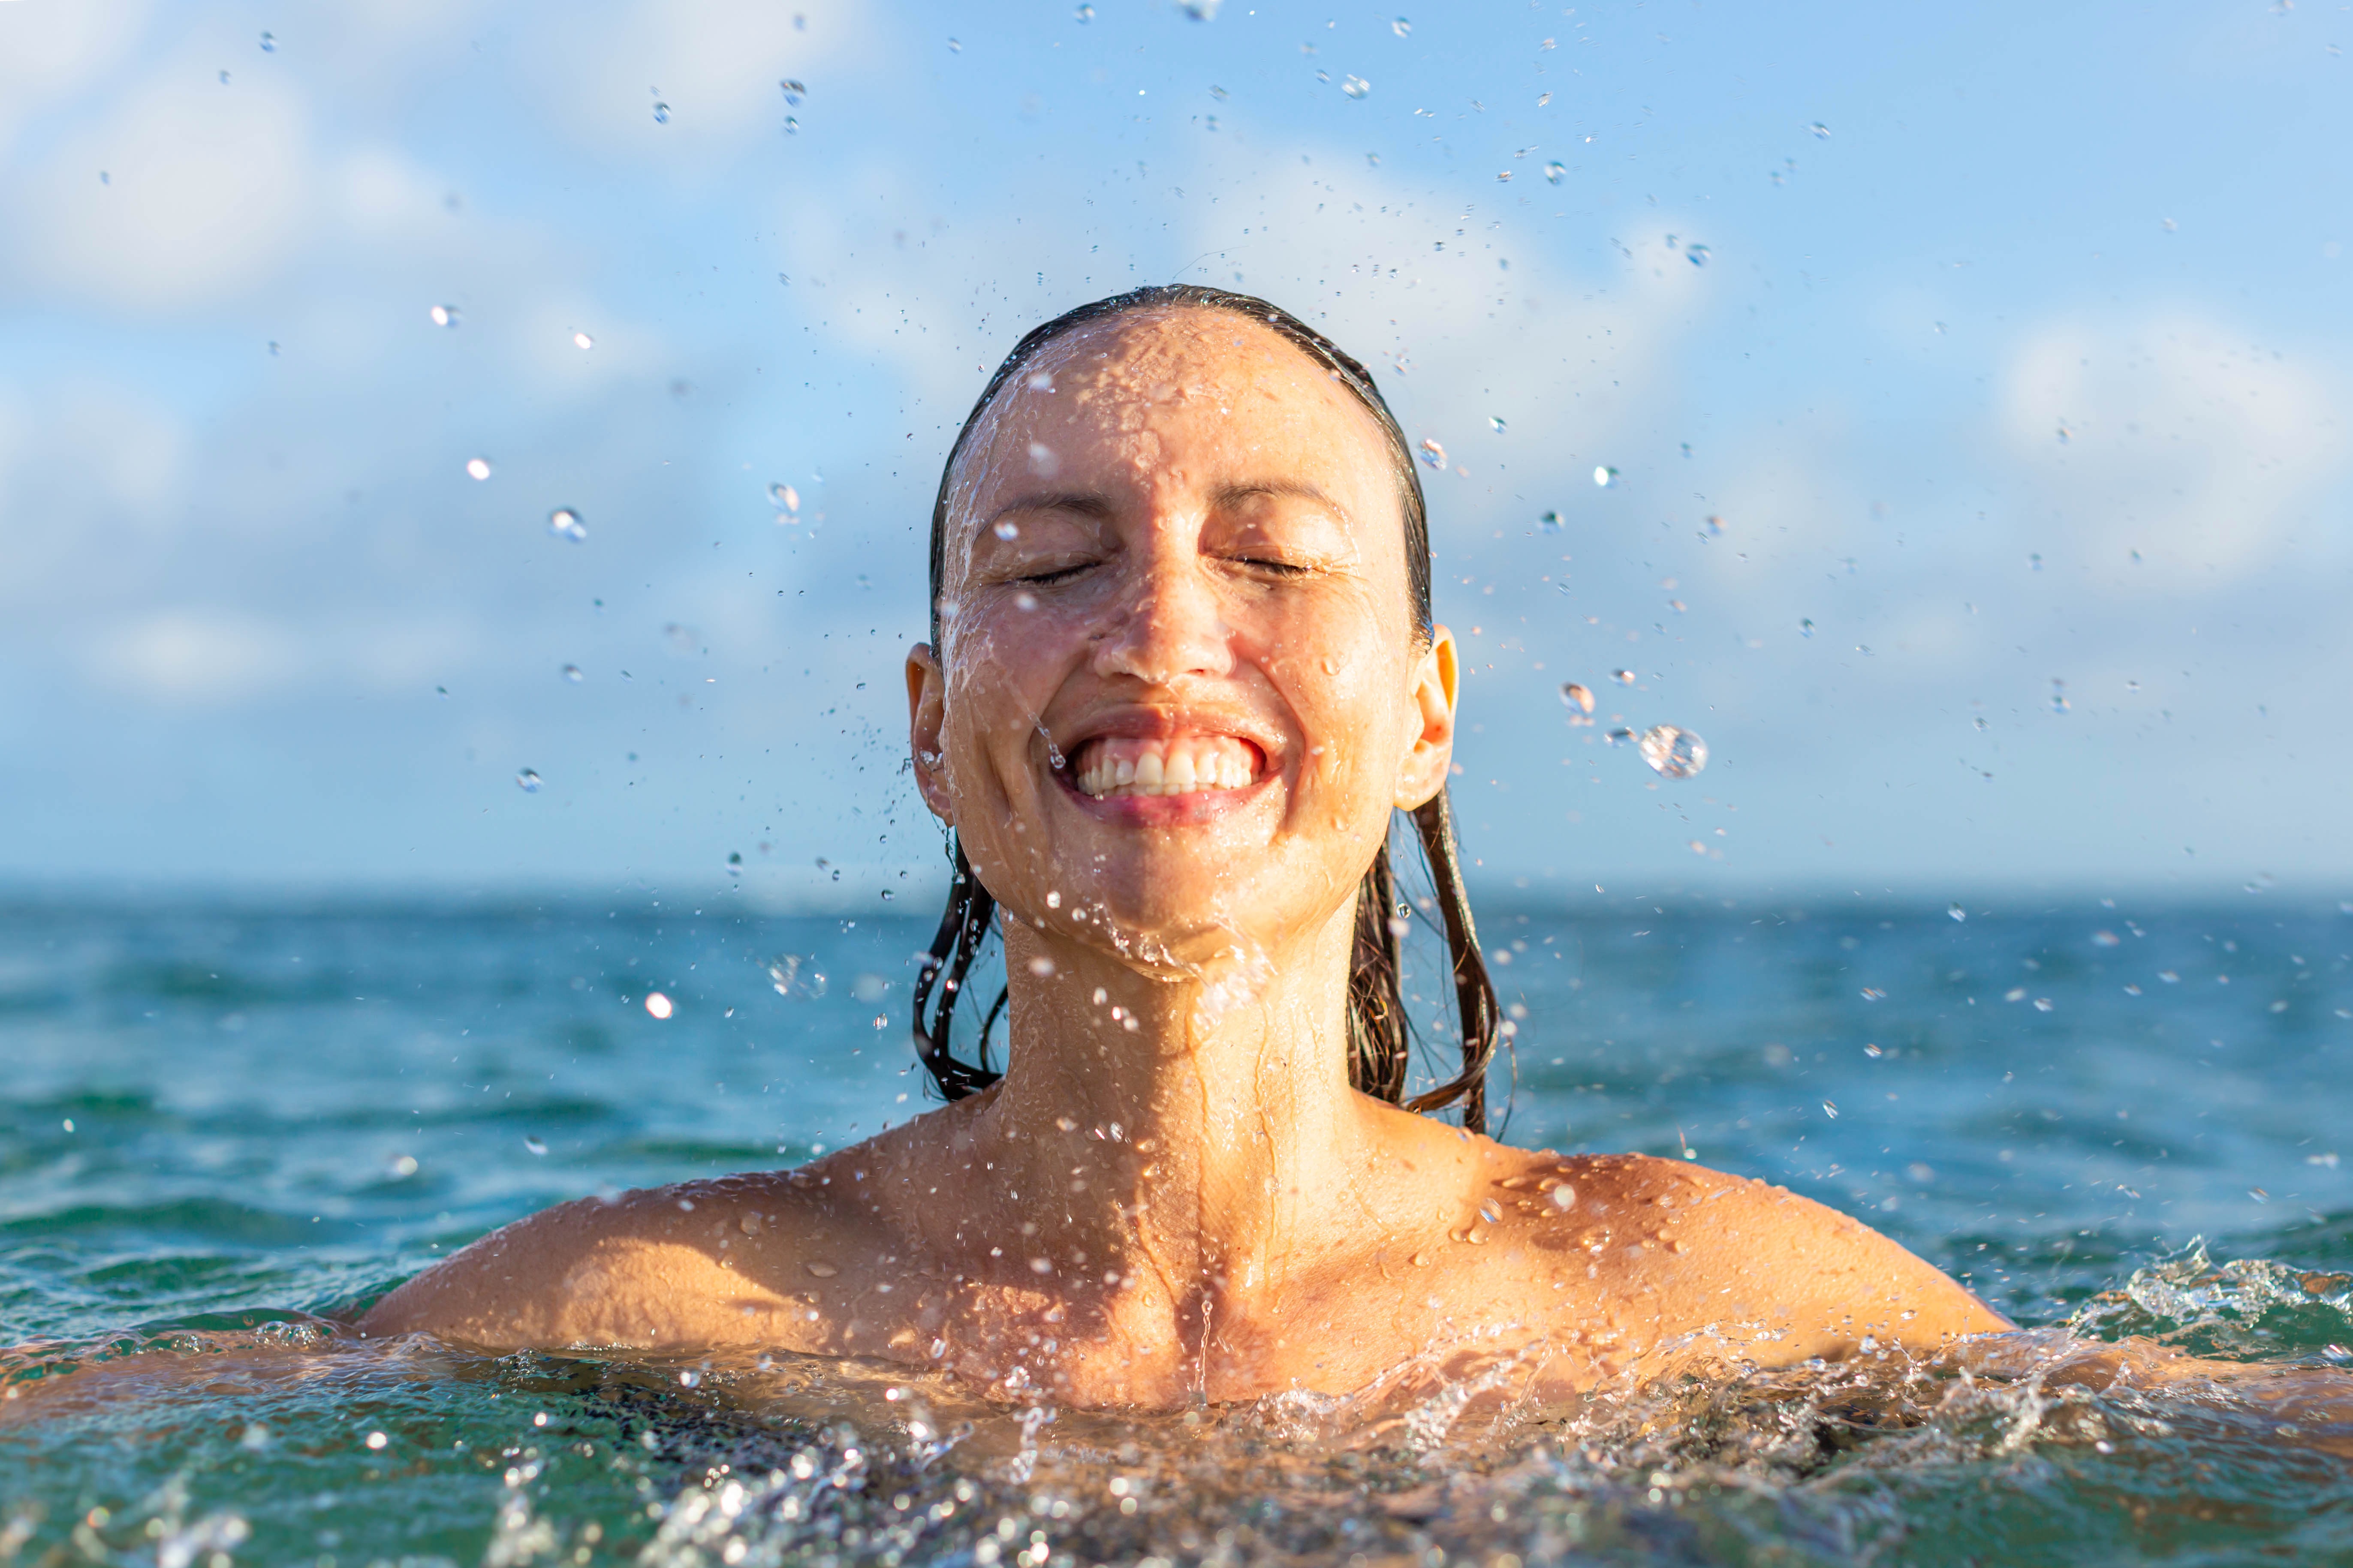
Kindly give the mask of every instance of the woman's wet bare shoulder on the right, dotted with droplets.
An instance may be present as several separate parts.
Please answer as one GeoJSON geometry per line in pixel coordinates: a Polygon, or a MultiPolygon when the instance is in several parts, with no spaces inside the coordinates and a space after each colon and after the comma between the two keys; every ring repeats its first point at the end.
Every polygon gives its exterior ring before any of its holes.
{"type": "Polygon", "coordinates": [[[1577,1295],[1654,1345],[1706,1333],[1786,1363],[2009,1328],[1937,1267],[1786,1187],[1647,1154],[1532,1157],[1518,1178],[1539,1246],[1569,1265],[1569,1286],[1584,1276],[1577,1295]]]}

